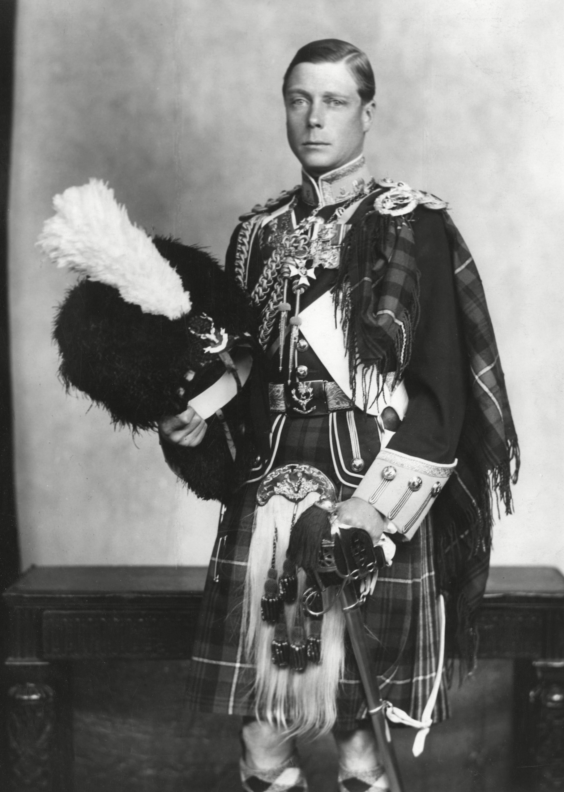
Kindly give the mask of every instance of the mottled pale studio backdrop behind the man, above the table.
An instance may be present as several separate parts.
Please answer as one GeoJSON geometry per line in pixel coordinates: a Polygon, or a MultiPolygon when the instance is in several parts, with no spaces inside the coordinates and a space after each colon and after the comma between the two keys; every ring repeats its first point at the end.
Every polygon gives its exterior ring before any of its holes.
{"type": "Polygon", "coordinates": [[[155,435],[66,395],[51,323],[76,276],[34,247],[51,197],[105,179],[131,219],[223,258],[299,181],[281,79],[334,36],[375,68],[377,177],[452,207],[486,287],[524,464],[493,562],[564,569],[562,6],[558,0],[20,0],[10,314],[23,564],[205,564],[218,505],[155,435]]]}

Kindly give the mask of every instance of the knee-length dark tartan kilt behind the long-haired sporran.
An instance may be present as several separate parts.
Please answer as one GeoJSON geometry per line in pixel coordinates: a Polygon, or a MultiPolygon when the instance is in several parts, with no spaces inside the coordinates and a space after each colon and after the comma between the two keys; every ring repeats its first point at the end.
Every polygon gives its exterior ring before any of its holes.
{"type": "MultiPolygon", "coordinates": [[[[363,430],[366,432],[365,425],[363,430]]],[[[377,435],[372,445],[375,456],[377,435]]],[[[367,467],[372,463],[372,459],[365,461],[367,467]]],[[[317,467],[338,489],[327,416],[287,417],[274,464],[290,462],[317,467]]],[[[245,657],[241,623],[257,488],[258,483],[245,485],[231,498],[211,554],[186,686],[187,703],[202,712],[254,714],[255,669],[245,657]]],[[[342,497],[350,497],[352,492],[345,488],[342,497]]],[[[379,571],[375,591],[363,606],[364,623],[383,699],[420,719],[433,687],[440,642],[430,518],[410,542],[398,540],[396,546],[393,564],[379,571]]],[[[367,717],[358,668],[346,636],[335,726],[354,729],[367,717]]],[[[433,721],[447,717],[443,673],[433,721]]]]}

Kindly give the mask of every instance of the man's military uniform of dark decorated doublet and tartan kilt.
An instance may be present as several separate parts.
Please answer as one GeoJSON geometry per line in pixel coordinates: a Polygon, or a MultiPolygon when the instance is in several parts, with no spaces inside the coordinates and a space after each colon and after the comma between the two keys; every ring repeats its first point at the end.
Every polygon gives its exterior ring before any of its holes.
{"type": "MultiPolygon", "coordinates": [[[[429,512],[455,468],[469,390],[444,208],[434,196],[406,185],[375,182],[364,158],[358,158],[318,182],[303,173],[299,188],[254,208],[234,231],[226,269],[250,293],[261,316],[269,359],[271,453],[257,460],[250,481],[227,503],[219,527],[188,683],[189,702],[200,710],[254,712],[256,670],[246,657],[242,599],[257,487],[278,466],[308,463],[332,479],[341,499],[356,493],[398,530],[392,534],[394,562],[380,571],[363,606],[364,620],[383,697],[421,718],[440,644],[429,512]],[[355,388],[332,291],[349,230],[375,210],[391,219],[399,257],[403,235],[410,235],[419,315],[413,338],[406,338],[409,363],[401,377],[389,371],[385,381],[367,384],[359,368],[355,388]],[[284,294],[278,276],[288,261],[294,262],[288,284],[303,287],[297,311],[296,291],[288,288],[284,294]]],[[[433,720],[446,715],[442,679],[433,720]]],[[[345,641],[337,726],[354,728],[363,718],[364,695],[345,641]]]]}

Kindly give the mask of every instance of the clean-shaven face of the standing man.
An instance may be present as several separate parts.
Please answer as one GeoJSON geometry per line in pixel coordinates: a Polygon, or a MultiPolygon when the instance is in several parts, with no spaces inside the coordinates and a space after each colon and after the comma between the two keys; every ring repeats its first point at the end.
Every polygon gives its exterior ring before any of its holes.
{"type": "Polygon", "coordinates": [[[284,103],[288,143],[307,173],[321,176],[362,153],[375,103],[363,105],[344,61],[298,63],[284,103]]]}

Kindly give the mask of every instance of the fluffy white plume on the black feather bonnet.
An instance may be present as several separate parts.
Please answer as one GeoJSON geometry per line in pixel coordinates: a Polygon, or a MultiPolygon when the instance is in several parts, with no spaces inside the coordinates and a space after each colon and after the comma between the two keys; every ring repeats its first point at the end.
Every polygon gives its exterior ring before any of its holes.
{"type": "Polygon", "coordinates": [[[69,187],[53,198],[53,206],[56,213],[45,221],[37,244],[58,267],[116,287],[145,314],[177,319],[189,313],[192,303],[181,277],[103,181],[69,187]]]}

